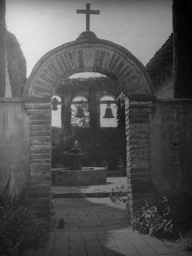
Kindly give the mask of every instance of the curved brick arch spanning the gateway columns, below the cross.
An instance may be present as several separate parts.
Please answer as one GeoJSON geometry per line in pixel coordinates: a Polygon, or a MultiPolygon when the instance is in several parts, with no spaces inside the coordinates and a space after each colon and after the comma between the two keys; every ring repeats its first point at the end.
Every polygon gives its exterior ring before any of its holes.
{"type": "Polygon", "coordinates": [[[151,79],[142,63],[125,48],[96,38],[77,39],[45,54],[29,76],[24,98],[50,98],[62,78],[81,72],[97,72],[119,81],[126,96],[154,97],[151,79]]]}

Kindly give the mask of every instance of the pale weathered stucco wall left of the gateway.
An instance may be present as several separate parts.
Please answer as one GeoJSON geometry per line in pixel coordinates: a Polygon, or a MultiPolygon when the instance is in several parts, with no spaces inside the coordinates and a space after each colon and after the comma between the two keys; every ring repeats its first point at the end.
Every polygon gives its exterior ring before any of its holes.
{"type": "Polygon", "coordinates": [[[29,182],[29,116],[21,98],[0,98],[0,183],[13,199],[29,182]]]}

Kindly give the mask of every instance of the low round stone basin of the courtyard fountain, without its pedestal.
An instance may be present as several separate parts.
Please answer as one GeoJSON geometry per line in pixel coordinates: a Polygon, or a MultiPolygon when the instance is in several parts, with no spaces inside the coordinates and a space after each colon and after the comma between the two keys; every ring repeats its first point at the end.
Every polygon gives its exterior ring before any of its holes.
{"type": "Polygon", "coordinates": [[[105,167],[82,167],[81,170],[70,168],[51,169],[53,186],[84,186],[96,185],[106,182],[105,167]]]}

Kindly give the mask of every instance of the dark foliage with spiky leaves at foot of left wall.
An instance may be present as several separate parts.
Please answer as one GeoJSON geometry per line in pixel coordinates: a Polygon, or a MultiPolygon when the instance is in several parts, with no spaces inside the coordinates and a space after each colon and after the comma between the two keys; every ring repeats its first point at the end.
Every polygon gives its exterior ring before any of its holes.
{"type": "Polygon", "coordinates": [[[47,242],[48,230],[42,230],[32,222],[31,211],[23,205],[22,198],[14,198],[12,204],[9,203],[9,183],[10,179],[0,196],[0,251],[16,256],[28,245],[47,242]]]}

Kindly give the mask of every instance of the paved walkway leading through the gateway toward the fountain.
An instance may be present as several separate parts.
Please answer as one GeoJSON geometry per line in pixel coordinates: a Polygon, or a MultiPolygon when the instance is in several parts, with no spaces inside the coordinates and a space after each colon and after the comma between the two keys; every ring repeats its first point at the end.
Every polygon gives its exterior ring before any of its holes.
{"type": "MultiPolygon", "coordinates": [[[[114,185],[113,182],[111,185],[114,185]]],[[[90,187],[78,189],[84,194],[88,191],[93,193],[90,187]]],[[[97,186],[98,189],[103,193],[102,185],[99,188],[97,186]]],[[[64,190],[67,194],[70,194],[70,191],[77,192],[72,187],[65,187],[62,191],[61,188],[53,188],[55,193],[64,193],[64,190]]],[[[104,192],[106,191],[108,190],[104,192]]],[[[181,251],[178,242],[160,241],[149,235],[133,232],[127,222],[127,212],[123,203],[114,204],[109,198],[96,197],[55,198],[52,202],[55,215],[49,244],[37,250],[25,250],[22,256],[192,255],[181,251]],[[66,222],[63,229],[58,225],[61,217],[66,222]]]]}

